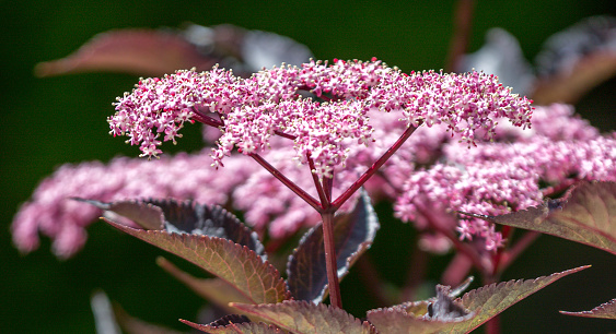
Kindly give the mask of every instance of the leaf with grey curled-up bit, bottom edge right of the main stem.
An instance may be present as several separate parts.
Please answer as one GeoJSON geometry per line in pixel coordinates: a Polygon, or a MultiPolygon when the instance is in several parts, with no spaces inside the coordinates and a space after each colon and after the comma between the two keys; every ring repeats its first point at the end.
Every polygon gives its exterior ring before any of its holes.
{"type": "Polygon", "coordinates": [[[435,298],[371,310],[368,320],[381,333],[438,333],[475,315],[454,300],[449,286],[438,285],[435,298]]]}

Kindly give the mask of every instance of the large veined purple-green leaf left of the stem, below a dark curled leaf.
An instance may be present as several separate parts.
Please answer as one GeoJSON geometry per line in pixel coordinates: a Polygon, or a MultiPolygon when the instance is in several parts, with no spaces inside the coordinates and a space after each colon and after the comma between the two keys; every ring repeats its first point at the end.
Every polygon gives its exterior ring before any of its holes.
{"type": "Polygon", "coordinates": [[[217,237],[135,229],[108,219],[105,222],[193,262],[233,286],[251,302],[271,303],[290,297],[278,271],[247,247],[217,237]]]}

